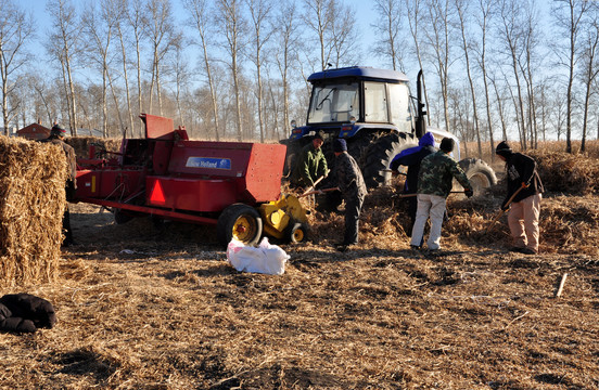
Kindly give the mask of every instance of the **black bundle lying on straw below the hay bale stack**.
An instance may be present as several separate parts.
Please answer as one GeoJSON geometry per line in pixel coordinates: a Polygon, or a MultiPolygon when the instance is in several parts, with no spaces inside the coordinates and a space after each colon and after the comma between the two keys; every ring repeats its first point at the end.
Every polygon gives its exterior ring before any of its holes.
{"type": "Polygon", "coordinates": [[[56,323],[54,307],[30,294],[9,294],[0,298],[0,332],[34,333],[56,323]]]}

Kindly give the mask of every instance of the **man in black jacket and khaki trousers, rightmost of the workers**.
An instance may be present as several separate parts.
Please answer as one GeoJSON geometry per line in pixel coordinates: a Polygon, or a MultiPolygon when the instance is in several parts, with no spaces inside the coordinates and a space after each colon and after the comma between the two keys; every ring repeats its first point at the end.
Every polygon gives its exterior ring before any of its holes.
{"type": "Polygon", "coordinates": [[[510,210],[508,224],[514,242],[510,250],[538,253],[538,219],[545,188],[536,170],[536,161],[522,153],[514,153],[506,141],[497,145],[495,153],[506,161],[508,193],[501,209],[510,210]],[[512,203],[508,204],[514,194],[512,203]]]}

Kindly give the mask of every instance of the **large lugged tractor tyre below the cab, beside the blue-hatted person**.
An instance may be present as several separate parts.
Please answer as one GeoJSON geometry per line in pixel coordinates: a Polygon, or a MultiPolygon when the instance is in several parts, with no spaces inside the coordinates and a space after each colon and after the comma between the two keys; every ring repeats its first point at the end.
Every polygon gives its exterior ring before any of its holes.
{"type": "Polygon", "coordinates": [[[391,179],[388,166],[395,155],[405,148],[418,146],[412,134],[384,134],[372,142],[360,158],[364,162],[361,171],[366,186],[369,188],[383,186],[391,179]]]}

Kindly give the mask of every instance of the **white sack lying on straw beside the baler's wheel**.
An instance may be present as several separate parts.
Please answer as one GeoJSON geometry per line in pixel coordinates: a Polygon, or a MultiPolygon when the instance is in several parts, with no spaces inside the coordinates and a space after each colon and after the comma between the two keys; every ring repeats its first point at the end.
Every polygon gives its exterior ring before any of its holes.
{"type": "Polygon", "coordinates": [[[283,249],[270,245],[267,237],[263,238],[257,248],[245,246],[234,238],[227,246],[227,260],[238,271],[282,275],[289,258],[283,249]]]}

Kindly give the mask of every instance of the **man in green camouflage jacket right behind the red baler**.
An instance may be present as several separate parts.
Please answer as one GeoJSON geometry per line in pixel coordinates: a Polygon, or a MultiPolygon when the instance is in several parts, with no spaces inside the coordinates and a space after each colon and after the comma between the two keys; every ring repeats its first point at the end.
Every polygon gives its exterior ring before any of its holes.
{"type": "Polygon", "coordinates": [[[322,133],[317,132],[311,142],[302,148],[293,171],[292,183],[294,185],[310,188],[318,178],[327,177],[329,168],[320,148],[322,143],[322,133]]]}

